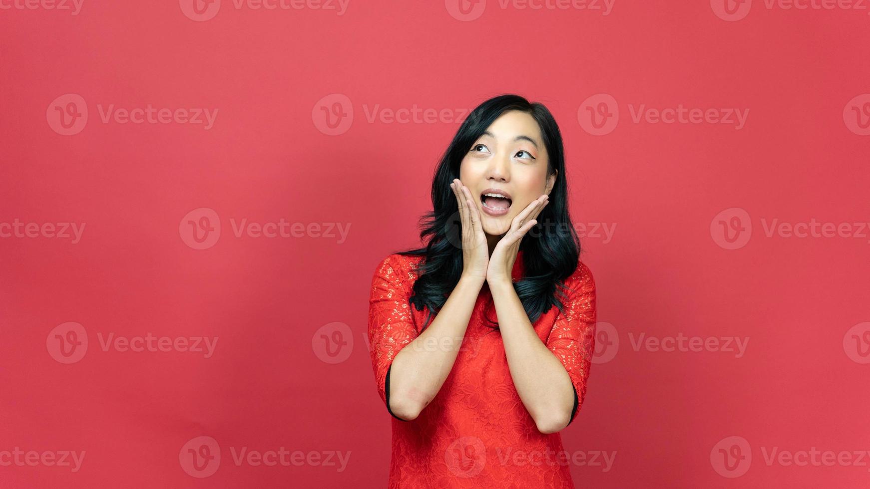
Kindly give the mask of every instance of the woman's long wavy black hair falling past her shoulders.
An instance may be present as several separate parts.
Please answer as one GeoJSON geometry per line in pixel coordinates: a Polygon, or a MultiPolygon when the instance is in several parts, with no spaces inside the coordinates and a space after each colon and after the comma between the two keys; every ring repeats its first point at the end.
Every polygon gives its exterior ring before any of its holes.
{"type": "MultiPolygon", "coordinates": [[[[424,255],[416,273],[410,303],[418,310],[429,308],[424,327],[444,306],[447,297],[458,284],[462,274],[462,230],[456,196],[450,184],[459,177],[459,166],[472,144],[489,128],[493,121],[508,110],[520,110],[531,115],[541,130],[547,155],[547,176],[558,170],[555,185],[550,192],[550,203],[537,217],[538,223],[520,242],[525,274],[513,284],[525,313],[534,323],[552,306],[562,310],[566,294],[565,280],[577,269],[580,242],[568,215],[568,187],[565,171],[565,150],[559,126],[550,110],[542,103],[529,102],[522,96],[506,94],[492,97],[472,110],[462,122],[452,142],[441,156],[432,177],[432,211],[420,218],[420,241],[425,248],[398,251],[398,254],[424,255]]],[[[487,314],[484,314],[488,318],[487,314]]]]}

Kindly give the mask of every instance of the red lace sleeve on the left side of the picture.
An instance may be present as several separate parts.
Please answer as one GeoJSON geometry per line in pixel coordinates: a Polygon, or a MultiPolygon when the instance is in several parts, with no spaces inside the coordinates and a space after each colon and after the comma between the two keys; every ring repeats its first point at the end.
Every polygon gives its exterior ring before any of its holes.
{"type": "Polygon", "coordinates": [[[378,394],[392,417],[402,420],[390,410],[390,370],[396,354],[419,332],[408,304],[411,276],[399,260],[395,254],[387,256],[371,279],[369,343],[378,394]]]}

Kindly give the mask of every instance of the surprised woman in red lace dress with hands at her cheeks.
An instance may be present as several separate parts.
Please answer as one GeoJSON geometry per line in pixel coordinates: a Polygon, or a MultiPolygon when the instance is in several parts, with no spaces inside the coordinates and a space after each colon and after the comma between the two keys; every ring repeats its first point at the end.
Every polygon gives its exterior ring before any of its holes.
{"type": "Polygon", "coordinates": [[[387,256],[371,282],[390,487],[573,487],[559,431],[586,393],[595,284],[567,195],[544,105],[496,96],[459,127],[427,246],[387,256]]]}

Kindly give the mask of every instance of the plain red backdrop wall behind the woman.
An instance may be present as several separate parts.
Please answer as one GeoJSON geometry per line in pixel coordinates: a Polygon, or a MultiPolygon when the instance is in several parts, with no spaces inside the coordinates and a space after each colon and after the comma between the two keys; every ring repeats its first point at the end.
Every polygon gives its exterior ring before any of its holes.
{"type": "MultiPolygon", "coordinates": [[[[84,0],[77,15],[0,10],[0,222],[85,224],[75,244],[0,238],[0,453],[86,453],[77,472],[0,465],[0,486],[385,486],[391,418],[365,342],[371,275],[417,244],[432,170],[458,123],[366,113],[416,104],[459,114],[499,93],[552,110],[575,223],[616,226],[610,240],[584,238],[583,260],[619,350],[592,366],[579,419],[562,432],[572,453],[616,457],[609,471],[572,466],[577,486],[867,486],[870,458],[764,458],[774,446],[870,450],[867,230],[768,237],[762,220],[870,221],[870,136],[848,120],[848,104],[868,99],[850,101],[870,92],[868,11],[755,0],[725,20],[715,1],[616,0],[602,15],[489,0],[464,21],[447,3],[351,0],[338,16],[224,0],[204,21],[171,0],[84,0]],[[64,94],[87,104],[75,135],[52,129],[64,94]],[[353,110],[336,135],[318,121],[331,94],[353,110]],[[578,118],[596,94],[619,104],[606,135],[578,118]],[[109,104],[218,116],[211,129],[104,123],[97,106],[109,104]],[[634,122],[640,104],[749,113],[741,129],[634,122]],[[210,248],[184,235],[197,208],[220,221],[210,248]],[[728,208],[752,221],[741,248],[711,234],[728,208]],[[231,219],[350,228],[340,243],[236,237],[231,219]],[[89,347],[64,364],[50,332],[69,321],[89,347]],[[331,364],[317,345],[335,322],[353,344],[331,364]],[[97,336],[148,333],[218,344],[206,359],[104,351],[97,336]],[[635,351],[639,334],[749,340],[736,358],[635,351]],[[222,453],[206,478],[179,462],[200,436],[222,453]],[[732,436],[753,456],[735,478],[711,461],[732,436]],[[342,472],[236,466],[230,447],[243,446],[351,454],[342,472]]],[[[613,339],[598,340],[604,355],[613,339]]]]}

